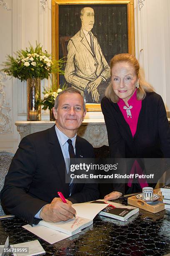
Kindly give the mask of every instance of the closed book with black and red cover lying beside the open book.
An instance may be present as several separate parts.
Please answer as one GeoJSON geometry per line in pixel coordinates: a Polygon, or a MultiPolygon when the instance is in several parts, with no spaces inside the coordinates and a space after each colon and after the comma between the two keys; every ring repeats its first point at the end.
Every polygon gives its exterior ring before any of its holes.
{"type": "Polygon", "coordinates": [[[122,220],[122,221],[127,220],[132,215],[139,212],[139,208],[137,207],[122,205],[122,204],[118,204],[110,201],[96,200],[96,201],[93,201],[92,203],[108,204],[101,212],[99,212],[99,215],[115,218],[117,220],[122,220]]]}

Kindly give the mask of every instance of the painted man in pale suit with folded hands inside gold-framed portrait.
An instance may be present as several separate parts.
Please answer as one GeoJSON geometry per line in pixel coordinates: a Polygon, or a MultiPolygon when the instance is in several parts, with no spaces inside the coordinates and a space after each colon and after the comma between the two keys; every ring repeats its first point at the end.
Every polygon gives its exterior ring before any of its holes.
{"type": "Polygon", "coordinates": [[[97,38],[91,32],[94,16],[94,10],[90,7],[80,11],[82,27],[68,42],[65,67],[66,81],[82,92],[86,103],[99,102],[100,87],[110,78],[110,67],[97,38]]]}

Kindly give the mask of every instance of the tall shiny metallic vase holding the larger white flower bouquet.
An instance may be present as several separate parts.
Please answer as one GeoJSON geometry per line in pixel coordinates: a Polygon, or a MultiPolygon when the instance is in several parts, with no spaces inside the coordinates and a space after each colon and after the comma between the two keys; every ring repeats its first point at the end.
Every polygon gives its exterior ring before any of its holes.
{"type": "Polygon", "coordinates": [[[27,120],[41,120],[41,83],[39,77],[27,79],[27,120]]]}

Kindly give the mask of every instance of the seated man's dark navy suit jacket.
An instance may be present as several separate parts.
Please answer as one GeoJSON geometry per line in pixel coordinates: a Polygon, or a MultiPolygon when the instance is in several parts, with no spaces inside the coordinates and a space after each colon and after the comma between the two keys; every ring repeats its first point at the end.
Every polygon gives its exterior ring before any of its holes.
{"type": "MultiPolygon", "coordinates": [[[[93,148],[85,139],[76,138],[76,157],[93,158],[93,148]]],[[[75,184],[69,197],[65,183],[65,160],[55,125],[32,133],[20,142],[1,191],[4,210],[29,224],[38,223],[35,214],[62,191],[72,203],[87,202],[99,197],[97,184],[75,184]]]]}

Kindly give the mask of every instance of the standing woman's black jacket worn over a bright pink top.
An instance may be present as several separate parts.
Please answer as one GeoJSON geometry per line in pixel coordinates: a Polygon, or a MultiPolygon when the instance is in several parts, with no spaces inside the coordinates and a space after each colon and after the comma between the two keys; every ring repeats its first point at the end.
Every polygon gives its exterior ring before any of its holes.
{"type": "MultiPolygon", "coordinates": [[[[134,137],[117,103],[104,97],[101,108],[112,158],[170,158],[170,126],[160,95],[147,93],[142,100],[134,137]]],[[[114,185],[110,189],[106,185],[105,192],[111,192],[114,185]]]]}

